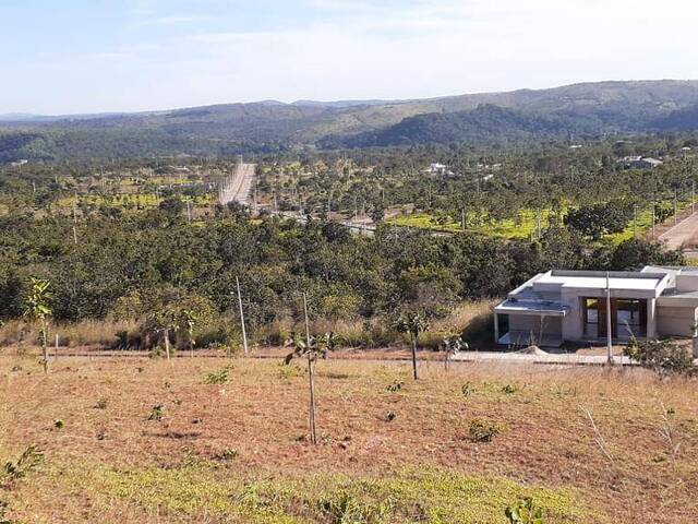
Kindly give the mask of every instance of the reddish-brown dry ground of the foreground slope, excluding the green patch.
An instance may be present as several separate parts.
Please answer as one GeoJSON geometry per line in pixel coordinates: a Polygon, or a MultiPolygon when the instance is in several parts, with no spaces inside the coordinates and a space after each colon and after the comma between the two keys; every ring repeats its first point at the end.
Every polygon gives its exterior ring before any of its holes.
{"type": "Polygon", "coordinates": [[[276,359],[180,358],[170,365],[74,358],[59,360],[44,376],[35,356],[5,354],[0,460],[16,457],[29,444],[44,450],[46,460],[0,490],[0,500],[10,503],[19,522],[257,522],[208,519],[206,505],[166,511],[161,501],[151,507],[124,497],[122,485],[77,480],[93,473],[95,479],[107,474],[120,479],[132,471],[179,471],[192,457],[216,462],[234,450],[234,466],[226,475],[244,481],[302,479],[318,472],[397,478],[405,467],[435,467],[569,490],[594,512],[583,522],[695,517],[697,382],[660,381],[638,369],[420,367],[421,379],[413,382],[401,361],[320,362],[323,437],[313,446],[305,439],[302,362],[289,369],[276,359]],[[227,382],[205,383],[208,373],[231,362],[227,382]],[[389,391],[397,383],[399,389],[389,391]],[[155,405],[163,406],[159,421],[148,420],[155,405]],[[469,422],[478,417],[505,429],[492,442],[472,442],[469,422]],[[56,420],[64,427],[57,428],[56,420]]]}

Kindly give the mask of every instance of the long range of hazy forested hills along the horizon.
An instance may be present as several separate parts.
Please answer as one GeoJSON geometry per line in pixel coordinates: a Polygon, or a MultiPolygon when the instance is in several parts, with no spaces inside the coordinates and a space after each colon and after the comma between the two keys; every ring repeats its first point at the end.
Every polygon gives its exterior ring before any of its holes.
{"type": "Polygon", "coordinates": [[[230,155],[698,130],[698,81],[600,82],[423,100],[260,102],[141,114],[0,118],[0,162],[230,155]]]}

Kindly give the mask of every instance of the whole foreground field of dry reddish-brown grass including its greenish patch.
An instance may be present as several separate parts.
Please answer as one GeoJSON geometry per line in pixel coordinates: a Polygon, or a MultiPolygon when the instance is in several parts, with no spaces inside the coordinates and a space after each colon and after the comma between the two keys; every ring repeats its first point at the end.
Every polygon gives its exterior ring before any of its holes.
{"type": "Polygon", "coordinates": [[[406,362],[329,359],[313,446],[303,362],[279,364],[64,358],[44,376],[5,353],[0,463],[20,474],[0,473],[0,522],[491,524],[527,496],[545,523],[698,512],[695,381],[433,361],[413,382],[406,362]],[[474,441],[473,419],[500,433],[474,441]],[[43,461],[17,464],[29,445],[43,461]]]}

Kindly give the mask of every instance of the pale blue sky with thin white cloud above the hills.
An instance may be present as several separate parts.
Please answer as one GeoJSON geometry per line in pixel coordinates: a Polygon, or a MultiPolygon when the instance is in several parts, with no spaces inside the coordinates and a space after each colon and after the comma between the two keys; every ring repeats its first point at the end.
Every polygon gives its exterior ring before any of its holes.
{"type": "Polygon", "coordinates": [[[0,0],[0,114],[698,79],[696,0],[0,0]]]}

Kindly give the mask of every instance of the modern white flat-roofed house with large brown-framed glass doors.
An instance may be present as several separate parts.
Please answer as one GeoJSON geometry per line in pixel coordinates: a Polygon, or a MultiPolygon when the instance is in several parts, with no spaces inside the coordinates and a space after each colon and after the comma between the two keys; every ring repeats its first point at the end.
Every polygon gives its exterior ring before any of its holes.
{"type": "Polygon", "coordinates": [[[552,270],[514,289],[494,308],[495,342],[557,347],[567,341],[605,341],[609,294],[615,341],[697,334],[698,267],[552,270]]]}

